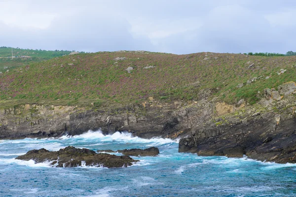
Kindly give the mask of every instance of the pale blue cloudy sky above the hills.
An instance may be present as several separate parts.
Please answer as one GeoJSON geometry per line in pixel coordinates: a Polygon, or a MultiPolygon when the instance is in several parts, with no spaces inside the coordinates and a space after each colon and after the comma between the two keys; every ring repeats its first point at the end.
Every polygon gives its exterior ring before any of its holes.
{"type": "Polygon", "coordinates": [[[295,19],[295,0],[0,0],[0,46],[285,54],[295,19]]]}

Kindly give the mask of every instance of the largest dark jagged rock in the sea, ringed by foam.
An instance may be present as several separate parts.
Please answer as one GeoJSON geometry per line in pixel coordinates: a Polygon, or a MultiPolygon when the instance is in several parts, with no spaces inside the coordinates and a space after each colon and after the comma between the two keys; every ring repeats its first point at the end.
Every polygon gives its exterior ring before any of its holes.
{"type": "Polygon", "coordinates": [[[133,160],[128,156],[116,156],[105,153],[97,154],[95,151],[83,148],[75,148],[68,146],[59,151],[48,151],[44,148],[39,150],[31,150],[25,155],[15,158],[17,160],[34,160],[36,163],[51,161],[51,165],[56,167],[77,167],[81,165],[87,166],[103,166],[103,167],[127,167],[132,165],[133,160]]]}

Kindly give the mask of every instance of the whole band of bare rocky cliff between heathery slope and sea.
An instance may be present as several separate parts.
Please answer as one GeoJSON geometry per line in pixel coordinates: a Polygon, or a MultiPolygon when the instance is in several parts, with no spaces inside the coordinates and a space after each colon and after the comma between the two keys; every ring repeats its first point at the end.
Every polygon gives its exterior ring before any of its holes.
{"type": "Polygon", "coordinates": [[[0,139],[128,131],[142,138],[181,138],[179,152],[296,163],[296,83],[263,91],[265,98],[254,105],[210,99],[210,89],[197,101],[149,98],[112,110],[22,105],[0,110],[0,139]]]}

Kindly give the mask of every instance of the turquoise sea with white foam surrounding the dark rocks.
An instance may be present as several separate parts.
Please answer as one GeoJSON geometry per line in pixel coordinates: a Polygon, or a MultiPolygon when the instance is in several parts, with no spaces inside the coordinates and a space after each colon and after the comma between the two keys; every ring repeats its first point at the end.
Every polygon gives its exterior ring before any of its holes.
{"type": "MultiPolygon", "coordinates": [[[[120,154],[116,154],[120,155],[120,154]]],[[[62,138],[0,140],[1,197],[293,197],[296,164],[178,153],[178,142],[100,131],[62,138]],[[159,148],[127,168],[56,168],[14,160],[32,149],[159,148]]]]}

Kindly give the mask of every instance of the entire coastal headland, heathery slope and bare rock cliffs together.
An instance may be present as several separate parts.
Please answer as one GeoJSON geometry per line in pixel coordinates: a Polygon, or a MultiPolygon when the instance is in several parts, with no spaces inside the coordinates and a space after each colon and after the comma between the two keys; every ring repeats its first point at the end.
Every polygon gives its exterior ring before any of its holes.
{"type": "Polygon", "coordinates": [[[295,64],[144,51],[55,58],[0,75],[0,139],[128,131],[178,138],[179,152],[296,163],[295,64]]]}

